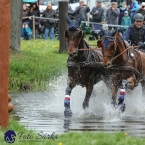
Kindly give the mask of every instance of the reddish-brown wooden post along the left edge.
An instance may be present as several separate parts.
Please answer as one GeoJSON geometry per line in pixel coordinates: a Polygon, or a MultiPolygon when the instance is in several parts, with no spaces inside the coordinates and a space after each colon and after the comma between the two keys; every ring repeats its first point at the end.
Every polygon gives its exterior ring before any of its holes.
{"type": "Polygon", "coordinates": [[[10,0],[0,4],[0,126],[8,126],[8,73],[10,50],[10,0]]]}

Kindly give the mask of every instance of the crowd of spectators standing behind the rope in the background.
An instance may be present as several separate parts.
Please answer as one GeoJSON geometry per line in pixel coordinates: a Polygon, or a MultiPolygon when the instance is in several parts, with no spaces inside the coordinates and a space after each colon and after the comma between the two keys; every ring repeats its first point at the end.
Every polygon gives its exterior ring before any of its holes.
{"type": "MultiPolygon", "coordinates": [[[[134,15],[136,13],[141,13],[145,16],[145,3],[143,2],[141,6],[138,4],[136,0],[131,0],[130,4],[127,5],[125,1],[111,2],[110,8],[104,10],[102,7],[102,1],[97,0],[96,5],[92,9],[89,8],[88,5],[84,3],[83,0],[80,0],[79,6],[76,7],[75,11],[71,9],[71,6],[68,6],[68,14],[75,15],[75,19],[78,20],[80,16],[82,17],[82,21],[88,20],[88,13],[92,15],[92,22],[96,24],[92,24],[94,30],[99,30],[102,24],[108,24],[108,30],[116,29],[116,25],[120,25],[120,32],[124,33],[131,24],[134,23],[134,15]]],[[[40,33],[40,25],[44,27],[43,33],[44,40],[47,40],[48,37],[50,40],[54,39],[54,31],[56,27],[56,21],[53,20],[57,18],[59,14],[59,9],[52,9],[52,5],[48,4],[46,10],[43,12],[42,17],[44,18],[52,18],[52,19],[39,19],[35,18],[35,37],[38,37],[40,33]]],[[[40,11],[36,3],[31,5],[24,4],[23,5],[23,19],[22,19],[22,37],[26,40],[32,38],[32,29],[33,29],[33,18],[31,16],[40,17],[40,11]]],[[[85,23],[83,23],[85,25],[85,23]]]]}

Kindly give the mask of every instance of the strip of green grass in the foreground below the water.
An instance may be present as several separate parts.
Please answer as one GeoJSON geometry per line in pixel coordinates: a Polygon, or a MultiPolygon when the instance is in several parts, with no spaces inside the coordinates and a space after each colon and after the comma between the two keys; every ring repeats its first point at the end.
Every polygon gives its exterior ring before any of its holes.
{"type": "Polygon", "coordinates": [[[24,126],[13,119],[9,121],[9,127],[0,131],[0,144],[7,145],[4,140],[4,134],[8,130],[14,130],[16,133],[14,145],[144,145],[145,138],[136,138],[128,136],[127,133],[107,134],[103,132],[83,132],[83,133],[65,133],[55,134],[54,140],[48,139],[48,134],[34,133],[28,131],[24,126]],[[21,135],[23,133],[23,135],[21,135]],[[20,136],[21,135],[21,136],[20,136]],[[38,140],[40,142],[38,142],[38,140]],[[32,142],[33,141],[33,142],[32,142]],[[62,144],[61,144],[62,143],[62,144]]]}

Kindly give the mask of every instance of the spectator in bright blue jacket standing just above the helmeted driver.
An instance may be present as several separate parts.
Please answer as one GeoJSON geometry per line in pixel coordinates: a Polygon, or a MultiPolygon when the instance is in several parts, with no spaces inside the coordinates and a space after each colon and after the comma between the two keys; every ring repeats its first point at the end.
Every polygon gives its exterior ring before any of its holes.
{"type": "Polygon", "coordinates": [[[137,12],[137,10],[139,9],[139,5],[138,2],[136,0],[131,0],[131,5],[129,8],[129,12],[130,12],[130,17],[131,17],[131,22],[133,23],[133,17],[135,15],[135,13],[137,12]]]}

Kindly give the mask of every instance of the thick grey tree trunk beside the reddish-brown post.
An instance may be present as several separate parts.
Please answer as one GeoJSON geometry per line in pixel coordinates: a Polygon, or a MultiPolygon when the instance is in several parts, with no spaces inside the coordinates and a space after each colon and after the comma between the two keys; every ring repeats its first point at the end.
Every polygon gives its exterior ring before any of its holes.
{"type": "Polygon", "coordinates": [[[20,51],[23,0],[11,0],[10,48],[20,51]]]}

